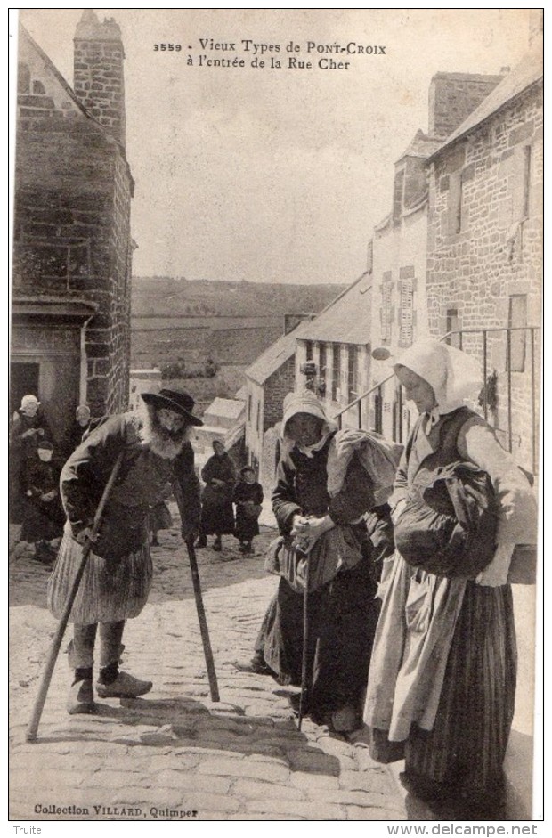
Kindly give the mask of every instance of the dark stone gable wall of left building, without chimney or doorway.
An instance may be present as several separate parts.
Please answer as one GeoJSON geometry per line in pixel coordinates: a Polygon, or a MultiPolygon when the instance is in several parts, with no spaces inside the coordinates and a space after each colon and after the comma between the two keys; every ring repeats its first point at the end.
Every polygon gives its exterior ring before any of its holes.
{"type": "Polygon", "coordinates": [[[124,410],[134,189],[124,151],[85,116],[25,34],[18,105],[14,303],[40,297],[98,305],[85,332],[84,397],[94,416],[124,410]]]}

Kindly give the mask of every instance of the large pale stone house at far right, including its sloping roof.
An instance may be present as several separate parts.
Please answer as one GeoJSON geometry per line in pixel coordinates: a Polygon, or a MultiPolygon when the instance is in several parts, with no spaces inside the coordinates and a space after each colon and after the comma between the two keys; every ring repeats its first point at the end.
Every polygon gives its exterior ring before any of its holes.
{"type": "Polygon", "coordinates": [[[537,25],[523,61],[428,159],[429,328],[435,336],[454,330],[449,339],[480,357],[483,410],[503,445],[532,472],[538,462],[542,85],[537,25]]]}

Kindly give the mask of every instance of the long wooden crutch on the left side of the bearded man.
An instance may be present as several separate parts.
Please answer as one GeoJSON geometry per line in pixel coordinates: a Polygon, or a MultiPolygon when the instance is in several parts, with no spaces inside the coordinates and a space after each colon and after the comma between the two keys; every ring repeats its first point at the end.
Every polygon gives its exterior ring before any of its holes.
{"type": "Polygon", "coordinates": [[[98,534],[101,524],[101,517],[103,516],[103,510],[105,508],[106,503],[109,500],[111,489],[113,488],[113,484],[115,483],[118,470],[121,468],[121,463],[123,461],[123,452],[120,452],[118,455],[117,460],[115,461],[115,465],[113,466],[113,470],[110,474],[110,479],[108,480],[105,489],[103,490],[103,494],[101,495],[100,503],[98,504],[98,508],[96,509],[96,514],[93,519],[92,529],[90,531],[90,535],[87,537],[85,541],[85,546],[83,548],[83,555],[80,559],[80,565],[78,565],[77,575],[73,580],[73,584],[71,586],[71,590],[69,591],[69,597],[67,598],[67,602],[63,608],[63,614],[61,614],[60,622],[58,623],[57,630],[53,637],[52,647],[50,648],[50,654],[48,655],[48,660],[46,661],[44,675],[42,676],[42,680],[40,682],[40,688],[38,690],[37,701],[35,702],[35,706],[33,708],[33,714],[31,716],[31,720],[28,724],[27,730],[27,741],[28,742],[35,742],[37,739],[37,730],[38,725],[40,724],[40,717],[42,716],[42,711],[44,710],[45,700],[48,693],[48,689],[50,688],[50,681],[52,680],[53,675],[53,667],[55,666],[55,662],[57,657],[60,653],[61,647],[61,640],[63,639],[63,635],[65,634],[65,630],[67,628],[67,623],[69,622],[69,615],[71,613],[71,609],[75,603],[75,598],[77,597],[78,586],[80,585],[80,581],[83,578],[83,574],[85,573],[85,566],[86,562],[88,561],[88,557],[90,556],[90,551],[93,547],[93,541],[98,534]]]}

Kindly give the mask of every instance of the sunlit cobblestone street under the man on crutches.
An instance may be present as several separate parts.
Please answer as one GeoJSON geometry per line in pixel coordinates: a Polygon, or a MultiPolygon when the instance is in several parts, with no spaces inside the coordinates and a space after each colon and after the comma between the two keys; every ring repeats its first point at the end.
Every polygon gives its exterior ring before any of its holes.
{"type": "Polygon", "coordinates": [[[124,638],[123,668],[152,679],[152,691],[98,701],[93,715],[69,717],[68,631],[34,744],[25,733],[55,622],[45,608],[48,570],[32,561],[30,547],[12,551],[11,818],[413,817],[393,775],[365,747],[310,720],[299,732],[287,690],[232,667],[251,654],[276,587],[263,569],[273,535],[263,527],[251,557],[230,537],[222,554],[198,551],[220,704],[209,700],[191,574],[175,527],[159,533],[150,600],[124,638]]]}

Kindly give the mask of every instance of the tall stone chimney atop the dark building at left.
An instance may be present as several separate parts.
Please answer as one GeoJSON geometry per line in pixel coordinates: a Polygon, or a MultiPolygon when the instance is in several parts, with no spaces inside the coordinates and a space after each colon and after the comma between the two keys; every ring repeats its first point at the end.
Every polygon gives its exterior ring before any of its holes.
{"type": "Polygon", "coordinates": [[[78,101],[106,130],[125,145],[125,52],[113,18],[98,20],[85,9],[77,23],[73,89],[78,101]]]}

